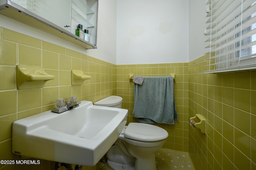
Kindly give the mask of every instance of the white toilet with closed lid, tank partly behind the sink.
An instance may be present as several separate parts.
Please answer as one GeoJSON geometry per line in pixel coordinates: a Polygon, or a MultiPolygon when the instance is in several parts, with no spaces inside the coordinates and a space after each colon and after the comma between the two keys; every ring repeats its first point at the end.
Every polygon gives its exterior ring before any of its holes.
{"type": "MultiPolygon", "coordinates": [[[[94,105],[122,107],[122,98],[110,96],[94,105]]],[[[156,170],[155,152],[166,142],[168,133],[146,123],[129,123],[108,150],[108,166],[113,170],[156,170]]]]}

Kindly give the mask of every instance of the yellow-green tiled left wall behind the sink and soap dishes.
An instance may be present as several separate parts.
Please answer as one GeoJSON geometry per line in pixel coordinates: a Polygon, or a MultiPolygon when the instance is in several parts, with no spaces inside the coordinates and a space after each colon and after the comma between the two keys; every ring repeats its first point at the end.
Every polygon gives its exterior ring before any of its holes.
{"type": "MultiPolygon", "coordinates": [[[[58,98],[68,100],[77,96],[78,100],[96,102],[107,96],[116,95],[116,65],[95,59],[0,27],[0,160],[15,160],[12,154],[12,123],[54,108],[58,98]],[[44,88],[17,90],[15,66],[30,64],[42,66],[54,80],[46,82],[44,88]],[[72,86],[70,70],[83,70],[90,80],[82,85],[72,86]]],[[[41,160],[38,166],[2,165],[1,170],[53,169],[54,162],[41,160]]],[[[97,170],[84,167],[85,170],[97,170]]]]}

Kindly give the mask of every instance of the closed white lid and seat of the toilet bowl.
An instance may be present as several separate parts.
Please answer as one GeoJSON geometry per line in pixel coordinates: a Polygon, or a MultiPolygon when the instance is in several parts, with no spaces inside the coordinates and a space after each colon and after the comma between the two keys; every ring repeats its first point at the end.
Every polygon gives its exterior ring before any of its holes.
{"type": "Polygon", "coordinates": [[[161,127],[146,123],[129,123],[124,137],[137,141],[161,141],[168,137],[168,132],[161,127]]]}

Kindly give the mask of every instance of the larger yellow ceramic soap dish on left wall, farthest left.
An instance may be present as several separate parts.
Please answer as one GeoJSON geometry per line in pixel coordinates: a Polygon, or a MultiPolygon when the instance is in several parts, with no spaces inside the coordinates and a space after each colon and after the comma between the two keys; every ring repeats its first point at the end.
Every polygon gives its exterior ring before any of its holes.
{"type": "Polygon", "coordinates": [[[30,65],[16,66],[16,84],[18,90],[42,88],[54,76],[47,74],[43,67],[30,65]]]}

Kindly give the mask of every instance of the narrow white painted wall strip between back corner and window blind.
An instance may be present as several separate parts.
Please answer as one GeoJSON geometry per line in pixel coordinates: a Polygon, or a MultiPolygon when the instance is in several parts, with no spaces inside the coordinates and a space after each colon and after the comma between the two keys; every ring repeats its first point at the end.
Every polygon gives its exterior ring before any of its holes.
{"type": "Polygon", "coordinates": [[[189,2],[189,61],[193,61],[204,55],[208,49],[204,41],[205,28],[205,1],[188,0],[189,2]]]}

